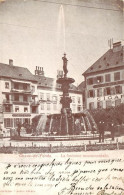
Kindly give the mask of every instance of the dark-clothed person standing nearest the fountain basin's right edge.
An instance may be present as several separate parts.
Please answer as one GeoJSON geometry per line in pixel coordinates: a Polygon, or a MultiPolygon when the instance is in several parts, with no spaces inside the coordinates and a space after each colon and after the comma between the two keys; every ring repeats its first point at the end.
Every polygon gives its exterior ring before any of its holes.
{"type": "Polygon", "coordinates": [[[99,128],[99,142],[104,142],[104,130],[105,130],[105,122],[103,120],[100,120],[98,123],[99,128]]]}

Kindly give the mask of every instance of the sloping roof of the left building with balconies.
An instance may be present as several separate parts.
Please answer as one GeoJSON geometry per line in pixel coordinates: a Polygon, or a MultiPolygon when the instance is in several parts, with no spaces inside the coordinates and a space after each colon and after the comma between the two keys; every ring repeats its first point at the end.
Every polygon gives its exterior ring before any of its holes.
{"type": "Polygon", "coordinates": [[[0,77],[37,82],[34,75],[27,68],[3,63],[0,63],[0,77]]]}

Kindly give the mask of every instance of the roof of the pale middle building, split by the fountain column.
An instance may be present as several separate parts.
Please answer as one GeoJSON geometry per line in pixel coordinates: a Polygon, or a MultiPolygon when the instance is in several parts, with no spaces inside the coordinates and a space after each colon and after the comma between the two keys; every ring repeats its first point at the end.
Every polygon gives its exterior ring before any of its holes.
{"type": "MultiPolygon", "coordinates": [[[[38,81],[38,86],[39,87],[49,87],[49,88],[55,87],[56,89],[61,90],[61,84],[56,83],[56,79],[54,79],[54,78],[39,76],[39,75],[35,75],[35,78],[38,81]]],[[[70,84],[70,90],[80,92],[78,87],[76,87],[73,84],[70,84]]]]}

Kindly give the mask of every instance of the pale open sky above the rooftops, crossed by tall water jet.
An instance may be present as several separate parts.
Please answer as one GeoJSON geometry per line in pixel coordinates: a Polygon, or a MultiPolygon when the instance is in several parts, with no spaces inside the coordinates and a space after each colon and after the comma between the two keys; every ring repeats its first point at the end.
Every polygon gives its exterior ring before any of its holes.
{"type": "Polygon", "coordinates": [[[0,0],[0,62],[36,66],[56,78],[64,52],[68,76],[80,84],[82,73],[110,47],[122,41],[122,1],[0,0]],[[3,1],[3,2],[2,2],[3,1]]]}

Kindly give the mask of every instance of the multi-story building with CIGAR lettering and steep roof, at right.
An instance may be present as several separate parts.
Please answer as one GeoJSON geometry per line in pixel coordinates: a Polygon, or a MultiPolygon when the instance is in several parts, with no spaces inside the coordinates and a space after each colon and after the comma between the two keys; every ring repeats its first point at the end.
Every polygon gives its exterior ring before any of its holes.
{"type": "Polygon", "coordinates": [[[86,108],[108,108],[124,103],[124,47],[113,44],[84,73],[86,108]]]}

